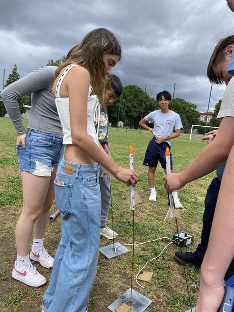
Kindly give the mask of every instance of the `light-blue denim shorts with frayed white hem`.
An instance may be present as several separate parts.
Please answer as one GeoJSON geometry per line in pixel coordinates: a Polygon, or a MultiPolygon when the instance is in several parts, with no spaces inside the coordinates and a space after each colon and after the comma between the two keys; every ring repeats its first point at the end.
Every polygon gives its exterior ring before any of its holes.
{"type": "Polygon", "coordinates": [[[16,145],[19,170],[36,176],[50,177],[64,155],[63,136],[28,129],[25,148],[16,145]]]}

